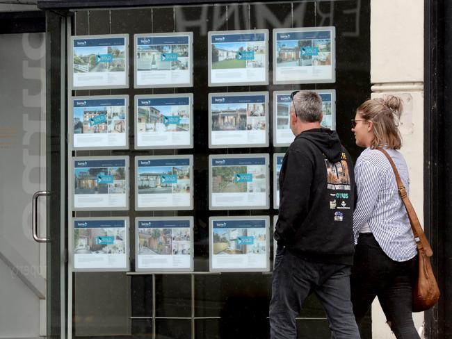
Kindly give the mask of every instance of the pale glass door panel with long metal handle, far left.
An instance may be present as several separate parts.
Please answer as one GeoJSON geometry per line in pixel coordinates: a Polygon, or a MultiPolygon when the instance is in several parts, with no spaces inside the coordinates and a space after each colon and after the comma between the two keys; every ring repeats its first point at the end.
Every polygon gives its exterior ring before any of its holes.
{"type": "Polygon", "coordinates": [[[34,338],[47,334],[45,33],[0,45],[0,338],[34,338]]]}

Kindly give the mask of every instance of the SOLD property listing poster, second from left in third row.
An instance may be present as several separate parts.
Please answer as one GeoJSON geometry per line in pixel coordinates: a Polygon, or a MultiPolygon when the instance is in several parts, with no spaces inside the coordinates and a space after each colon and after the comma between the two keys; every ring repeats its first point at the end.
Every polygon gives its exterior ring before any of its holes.
{"type": "Polygon", "coordinates": [[[137,210],[193,209],[193,156],[137,156],[137,210]]]}

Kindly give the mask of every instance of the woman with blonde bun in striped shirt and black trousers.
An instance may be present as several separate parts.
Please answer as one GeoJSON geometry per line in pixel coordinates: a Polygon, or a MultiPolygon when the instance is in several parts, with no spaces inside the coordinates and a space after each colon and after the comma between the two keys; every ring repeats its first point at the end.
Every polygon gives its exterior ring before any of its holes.
{"type": "Polygon", "coordinates": [[[353,215],[355,258],[351,276],[353,312],[359,324],[378,297],[387,324],[398,339],[418,339],[412,320],[412,285],[417,276],[417,247],[396,177],[385,149],[409,191],[408,169],[398,151],[401,99],[365,101],[352,120],[356,144],[365,147],[355,165],[357,206],[353,215]]]}

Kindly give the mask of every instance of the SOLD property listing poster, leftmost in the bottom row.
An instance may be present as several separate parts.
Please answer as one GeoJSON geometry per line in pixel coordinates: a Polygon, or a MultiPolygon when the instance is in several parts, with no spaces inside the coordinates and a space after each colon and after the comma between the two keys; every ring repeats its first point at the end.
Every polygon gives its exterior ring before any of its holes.
{"type": "Polygon", "coordinates": [[[74,218],[72,222],[74,271],[129,270],[129,218],[74,218]]]}

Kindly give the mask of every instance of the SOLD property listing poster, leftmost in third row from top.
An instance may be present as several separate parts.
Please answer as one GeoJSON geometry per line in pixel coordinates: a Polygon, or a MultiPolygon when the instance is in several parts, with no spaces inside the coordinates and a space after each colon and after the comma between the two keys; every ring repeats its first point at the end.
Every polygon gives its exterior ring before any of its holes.
{"type": "Polygon", "coordinates": [[[72,158],[74,210],[129,209],[129,157],[72,158]]]}

